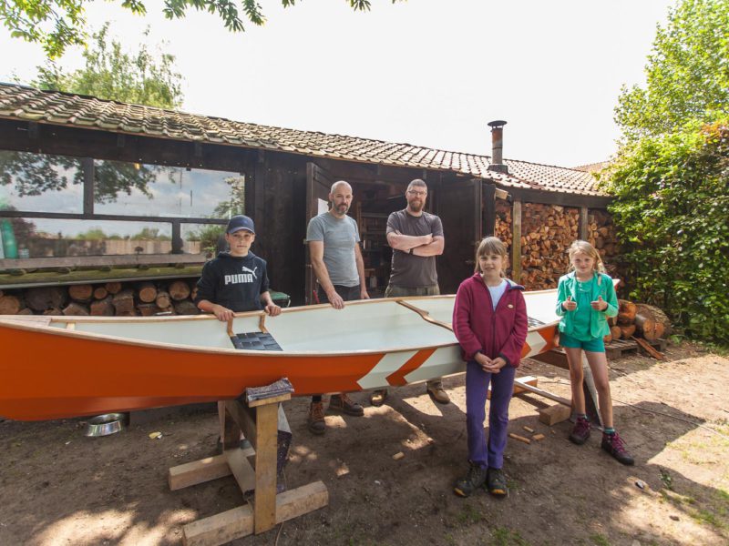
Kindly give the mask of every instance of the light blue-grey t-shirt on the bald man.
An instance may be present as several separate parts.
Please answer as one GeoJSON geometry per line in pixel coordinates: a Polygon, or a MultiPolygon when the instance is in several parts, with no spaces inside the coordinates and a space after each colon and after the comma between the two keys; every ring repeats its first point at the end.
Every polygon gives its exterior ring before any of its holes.
{"type": "Polygon", "coordinates": [[[359,286],[354,260],[354,245],[359,243],[359,231],[354,218],[336,218],[329,212],[315,216],[306,228],[306,241],[323,241],[324,265],[332,284],[359,286]]]}

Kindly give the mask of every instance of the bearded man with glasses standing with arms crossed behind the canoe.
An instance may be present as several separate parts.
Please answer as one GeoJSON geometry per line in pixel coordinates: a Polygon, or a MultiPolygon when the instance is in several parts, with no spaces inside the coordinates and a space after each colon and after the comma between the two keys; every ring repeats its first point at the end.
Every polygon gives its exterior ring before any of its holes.
{"type": "MultiPolygon", "coordinates": [[[[443,224],[439,217],[424,210],[427,186],[423,180],[410,182],[405,196],[407,207],[387,218],[387,243],[393,248],[393,261],[385,298],[436,296],[440,294],[436,256],[443,254],[445,246],[443,224]]],[[[440,404],[450,402],[440,379],[429,380],[426,391],[440,404]]],[[[382,406],[386,397],[386,389],[375,390],[370,403],[382,406]]]]}

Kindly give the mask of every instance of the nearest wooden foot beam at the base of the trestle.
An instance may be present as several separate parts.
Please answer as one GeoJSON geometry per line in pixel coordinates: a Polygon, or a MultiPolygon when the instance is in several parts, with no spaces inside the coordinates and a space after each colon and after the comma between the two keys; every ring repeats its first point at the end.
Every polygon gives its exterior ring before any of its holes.
{"type": "MultiPolygon", "coordinates": [[[[293,520],[329,504],[329,492],[322,481],[284,491],[276,496],[276,521],[293,520]]],[[[234,541],[253,532],[250,504],[221,512],[182,528],[182,543],[187,546],[215,546],[234,541]]]]}

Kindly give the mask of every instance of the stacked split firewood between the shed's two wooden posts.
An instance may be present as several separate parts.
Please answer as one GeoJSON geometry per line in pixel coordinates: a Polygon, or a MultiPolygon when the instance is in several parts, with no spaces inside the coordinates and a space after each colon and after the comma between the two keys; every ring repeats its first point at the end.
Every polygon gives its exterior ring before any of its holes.
{"type": "Polygon", "coordinates": [[[555,288],[570,268],[568,248],[578,237],[580,210],[524,203],[521,220],[521,284],[529,290],[555,288]]]}

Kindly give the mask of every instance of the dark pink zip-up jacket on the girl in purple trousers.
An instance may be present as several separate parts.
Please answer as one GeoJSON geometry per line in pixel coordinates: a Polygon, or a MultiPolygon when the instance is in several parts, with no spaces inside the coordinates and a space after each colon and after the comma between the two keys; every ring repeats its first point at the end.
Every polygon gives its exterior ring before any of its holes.
{"type": "Polygon", "coordinates": [[[473,360],[478,351],[489,359],[501,357],[519,367],[521,349],[527,340],[527,304],[524,287],[507,279],[507,289],[496,310],[491,293],[481,275],[475,273],[458,287],[453,308],[453,331],[463,350],[464,360],[473,360]]]}

